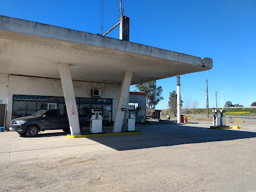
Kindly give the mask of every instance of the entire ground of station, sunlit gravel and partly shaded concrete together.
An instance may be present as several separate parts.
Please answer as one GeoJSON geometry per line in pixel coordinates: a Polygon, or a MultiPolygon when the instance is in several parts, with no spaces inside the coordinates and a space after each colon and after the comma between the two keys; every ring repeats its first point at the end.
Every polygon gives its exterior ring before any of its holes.
{"type": "Polygon", "coordinates": [[[3,191],[253,191],[256,126],[137,126],[141,135],[68,139],[0,133],[3,191]]]}

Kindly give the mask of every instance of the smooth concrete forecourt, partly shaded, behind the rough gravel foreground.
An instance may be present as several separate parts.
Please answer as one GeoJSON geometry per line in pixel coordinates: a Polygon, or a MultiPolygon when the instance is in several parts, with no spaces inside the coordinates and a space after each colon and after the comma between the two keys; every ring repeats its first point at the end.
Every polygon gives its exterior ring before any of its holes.
{"type": "Polygon", "coordinates": [[[38,137],[22,137],[16,132],[0,132],[0,162],[44,156],[63,156],[93,151],[123,151],[148,147],[174,146],[200,142],[227,141],[256,137],[256,124],[243,124],[239,130],[209,130],[211,122],[137,126],[142,134],[68,139],[63,131],[45,131],[38,137]]]}

